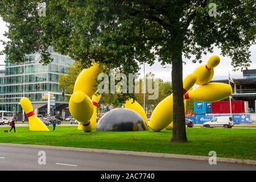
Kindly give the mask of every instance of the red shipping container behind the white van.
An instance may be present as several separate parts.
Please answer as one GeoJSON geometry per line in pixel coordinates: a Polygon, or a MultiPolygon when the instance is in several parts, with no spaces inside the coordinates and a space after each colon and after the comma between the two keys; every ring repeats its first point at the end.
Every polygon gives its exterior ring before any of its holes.
{"type": "MultiPolygon", "coordinates": [[[[231,101],[232,113],[245,113],[245,101],[231,101]]],[[[212,102],[212,113],[230,113],[229,101],[212,102]]]]}

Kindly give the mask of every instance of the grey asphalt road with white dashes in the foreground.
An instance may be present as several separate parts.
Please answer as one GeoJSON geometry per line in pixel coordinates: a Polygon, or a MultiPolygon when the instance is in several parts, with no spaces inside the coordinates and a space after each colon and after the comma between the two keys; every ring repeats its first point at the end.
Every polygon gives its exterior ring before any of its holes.
{"type": "MultiPolygon", "coordinates": [[[[42,160],[39,160],[42,162],[42,160]]],[[[99,154],[0,145],[0,170],[256,170],[256,166],[185,159],[99,154]],[[39,165],[39,151],[46,152],[46,164],[39,165]]]]}

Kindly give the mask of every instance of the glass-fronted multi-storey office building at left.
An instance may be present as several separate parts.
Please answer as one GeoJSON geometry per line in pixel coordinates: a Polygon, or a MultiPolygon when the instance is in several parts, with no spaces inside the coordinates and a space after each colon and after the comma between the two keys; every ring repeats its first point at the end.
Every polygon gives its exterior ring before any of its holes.
{"type": "MultiPolygon", "coordinates": [[[[73,64],[73,60],[68,56],[51,52],[52,62],[48,65],[40,64],[36,60],[38,54],[26,56],[23,64],[10,63],[7,58],[5,70],[0,71],[0,110],[22,112],[19,105],[20,97],[28,97],[34,103],[47,103],[42,99],[43,93],[59,92],[59,77],[68,73],[68,65],[73,64]]],[[[40,55],[39,55],[40,57],[40,55]]],[[[65,102],[65,97],[55,95],[56,103],[65,102]]]]}

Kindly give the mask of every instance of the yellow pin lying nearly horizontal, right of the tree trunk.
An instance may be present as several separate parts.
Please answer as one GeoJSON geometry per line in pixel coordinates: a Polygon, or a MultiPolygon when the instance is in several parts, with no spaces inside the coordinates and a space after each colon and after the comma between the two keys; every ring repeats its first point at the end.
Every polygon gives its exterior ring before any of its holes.
{"type": "Polygon", "coordinates": [[[209,83],[201,85],[195,90],[185,93],[185,99],[195,99],[197,101],[215,102],[221,101],[232,95],[232,87],[229,84],[209,83]]]}

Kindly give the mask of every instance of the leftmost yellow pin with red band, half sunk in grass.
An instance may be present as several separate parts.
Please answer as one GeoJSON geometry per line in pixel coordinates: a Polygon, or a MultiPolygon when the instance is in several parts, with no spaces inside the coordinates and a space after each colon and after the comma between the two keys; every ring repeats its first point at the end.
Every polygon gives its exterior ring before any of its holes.
{"type": "Polygon", "coordinates": [[[27,97],[20,99],[20,106],[27,114],[30,131],[49,131],[48,127],[36,116],[30,100],[27,97]]]}

